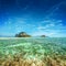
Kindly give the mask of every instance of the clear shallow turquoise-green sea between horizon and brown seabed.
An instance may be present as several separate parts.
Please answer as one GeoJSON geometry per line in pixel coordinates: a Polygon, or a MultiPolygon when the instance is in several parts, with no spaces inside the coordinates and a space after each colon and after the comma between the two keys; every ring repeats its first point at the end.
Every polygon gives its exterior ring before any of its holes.
{"type": "Polygon", "coordinates": [[[0,56],[22,54],[28,58],[66,55],[66,37],[29,37],[0,40],[0,56]]]}

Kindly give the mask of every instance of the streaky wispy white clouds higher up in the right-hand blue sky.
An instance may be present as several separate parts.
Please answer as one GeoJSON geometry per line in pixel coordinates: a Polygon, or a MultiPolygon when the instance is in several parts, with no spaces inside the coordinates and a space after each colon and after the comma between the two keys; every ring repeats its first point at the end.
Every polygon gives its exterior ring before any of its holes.
{"type": "Polygon", "coordinates": [[[52,30],[52,29],[65,29],[63,25],[63,20],[48,19],[40,22],[37,30],[52,30]]]}

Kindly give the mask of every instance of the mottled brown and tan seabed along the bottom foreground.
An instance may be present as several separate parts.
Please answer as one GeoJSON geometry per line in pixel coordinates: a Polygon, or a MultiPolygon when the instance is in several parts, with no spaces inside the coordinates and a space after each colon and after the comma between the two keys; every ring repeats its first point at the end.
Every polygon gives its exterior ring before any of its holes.
{"type": "Polygon", "coordinates": [[[26,59],[18,55],[13,56],[13,58],[8,55],[6,59],[0,59],[0,66],[66,66],[66,61],[62,58],[46,56],[43,59],[26,59]]]}

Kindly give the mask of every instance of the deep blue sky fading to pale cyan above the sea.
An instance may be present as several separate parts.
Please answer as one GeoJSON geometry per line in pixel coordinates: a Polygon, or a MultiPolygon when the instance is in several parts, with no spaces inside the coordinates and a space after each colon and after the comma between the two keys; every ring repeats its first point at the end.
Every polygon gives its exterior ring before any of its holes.
{"type": "Polygon", "coordinates": [[[66,36],[66,0],[0,0],[0,35],[66,36]]]}

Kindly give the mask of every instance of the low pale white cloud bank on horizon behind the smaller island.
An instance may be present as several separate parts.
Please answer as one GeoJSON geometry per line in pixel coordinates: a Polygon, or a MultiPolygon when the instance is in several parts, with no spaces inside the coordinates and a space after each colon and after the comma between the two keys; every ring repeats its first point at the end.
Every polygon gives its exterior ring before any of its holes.
{"type": "Polygon", "coordinates": [[[64,33],[62,33],[59,30],[44,30],[44,31],[36,31],[33,33],[33,36],[40,36],[40,35],[46,35],[50,37],[61,37],[65,36],[64,33]]]}

